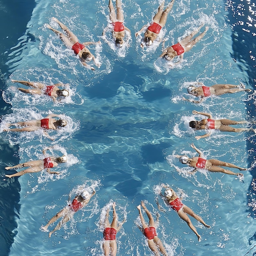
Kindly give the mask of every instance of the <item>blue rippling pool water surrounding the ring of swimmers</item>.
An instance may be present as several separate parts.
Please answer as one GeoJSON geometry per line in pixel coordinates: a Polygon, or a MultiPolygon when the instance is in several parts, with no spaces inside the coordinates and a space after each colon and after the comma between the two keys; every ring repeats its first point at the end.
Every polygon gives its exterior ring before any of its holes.
{"type": "MultiPolygon", "coordinates": [[[[187,84],[194,81],[255,84],[255,6],[248,1],[214,2],[175,0],[163,36],[168,45],[202,22],[206,36],[188,53],[181,65],[168,68],[157,57],[161,45],[141,50],[134,34],[150,22],[157,1],[123,1],[130,45],[121,51],[101,37],[108,22],[108,2],[88,0],[13,1],[0,4],[3,20],[9,20],[1,61],[2,98],[0,131],[6,122],[65,114],[69,125],[49,141],[40,133],[1,132],[1,255],[102,255],[102,209],[115,201],[119,220],[127,218],[117,235],[117,255],[152,255],[136,226],[136,206],[146,200],[157,215],[156,191],[162,182],[182,195],[184,203],[211,225],[206,229],[194,219],[202,235],[195,234],[173,210],[161,213],[157,232],[169,255],[253,255],[255,218],[255,134],[214,132],[196,141],[187,128],[192,110],[213,117],[255,120],[255,93],[212,97],[200,105],[182,101],[187,84]],[[4,16],[5,15],[5,16],[4,16]],[[45,28],[55,16],[81,40],[102,44],[90,47],[101,68],[81,66],[52,31],[45,28]],[[11,18],[11,19],[10,19],[11,18]],[[247,24],[247,23],[248,24],[247,24]],[[252,25],[252,26],[251,26],[252,25]],[[9,27],[8,27],[9,26],[9,27]],[[16,90],[11,79],[69,83],[74,94],[62,103],[32,97],[16,90]],[[188,176],[173,155],[194,155],[194,142],[207,158],[221,159],[249,168],[244,179],[219,173],[188,176]],[[26,174],[7,180],[7,165],[43,157],[53,144],[69,161],[58,167],[59,177],[26,174]],[[181,170],[182,172],[178,172],[181,170]],[[48,238],[41,229],[72,196],[85,186],[97,193],[83,210],[48,238]],[[10,203],[11,202],[11,203],[10,203]],[[5,220],[5,221],[3,221],[5,220]]],[[[110,36],[107,34],[107,36],[110,36]]],[[[200,132],[198,132],[200,133],[200,132]]],[[[159,199],[164,208],[166,206],[159,199]]],[[[166,208],[167,209],[167,208],[166,208]]],[[[146,217],[146,216],[145,216],[146,217]]]]}

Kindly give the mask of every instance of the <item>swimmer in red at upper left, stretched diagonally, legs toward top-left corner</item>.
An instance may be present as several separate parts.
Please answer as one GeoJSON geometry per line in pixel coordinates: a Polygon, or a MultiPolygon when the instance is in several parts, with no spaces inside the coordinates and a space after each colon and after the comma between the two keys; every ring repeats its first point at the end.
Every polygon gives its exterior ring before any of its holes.
{"type": "Polygon", "coordinates": [[[88,48],[85,46],[87,45],[92,45],[92,44],[100,44],[100,42],[94,43],[94,42],[85,42],[83,44],[79,43],[78,38],[64,25],[62,24],[57,18],[53,17],[52,20],[58,23],[60,27],[65,31],[66,34],[61,33],[61,31],[58,31],[54,28],[52,28],[49,24],[46,24],[46,27],[48,29],[51,29],[54,31],[55,34],[57,34],[63,43],[68,47],[71,48],[76,55],[80,57],[80,61],[85,67],[88,67],[91,70],[95,70],[94,67],[91,67],[86,63],[86,61],[91,61],[93,60],[95,65],[97,67],[100,67],[98,63],[96,63],[96,59],[93,56],[93,54],[89,51],[88,48]]]}

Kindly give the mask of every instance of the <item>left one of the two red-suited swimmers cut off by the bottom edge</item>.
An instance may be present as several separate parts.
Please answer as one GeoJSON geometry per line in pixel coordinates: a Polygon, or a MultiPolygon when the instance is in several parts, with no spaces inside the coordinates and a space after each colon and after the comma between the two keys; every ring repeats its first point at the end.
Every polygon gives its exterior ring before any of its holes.
{"type": "Polygon", "coordinates": [[[105,221],[104,223],[101,223],[101,225],[104,225],[104,242],[103,242],[103,250],[105,256],[116,256],[117,255],[117,241],[116,241],[116,234],[121,229],[124,222],[126,222],[126,219],[124,218],[123,222],[119,223],[117,226],[117,213],[115,209],[116,203],[113,202],[112,208],[113,208],[113,220],[110,224],[108,217],[109,217],[109,209],[107,210],[105,221]]]}

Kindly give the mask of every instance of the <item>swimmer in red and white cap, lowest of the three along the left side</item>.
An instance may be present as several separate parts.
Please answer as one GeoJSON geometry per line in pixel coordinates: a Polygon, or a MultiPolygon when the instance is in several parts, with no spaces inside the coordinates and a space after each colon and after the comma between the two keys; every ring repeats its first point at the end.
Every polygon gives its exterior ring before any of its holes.
{"type": "Polygon", "coordinates": [[[59,175],[60,172],[50,171],[50,168],[57,167],[59,163],[67,162],[67,156],[63,155],[62,157],[53,157],[53,156],[49,157],[46,154],[46,151],[49,149],[50,149],[49,147],[43,149],[43,154],[45,155],[45,158],[43,160],[29,161],[22,164],[17,164],[15,166],[5,167],[6,170],[29,167],[18,173],[14,173],[12,175],[5,175],[5,176],[8,178],[17,177],[17,176],[22,176],[25,173],[38,173],[40,171],[43,171],[44,169],[47,171],[47,173],[59,175]]]}

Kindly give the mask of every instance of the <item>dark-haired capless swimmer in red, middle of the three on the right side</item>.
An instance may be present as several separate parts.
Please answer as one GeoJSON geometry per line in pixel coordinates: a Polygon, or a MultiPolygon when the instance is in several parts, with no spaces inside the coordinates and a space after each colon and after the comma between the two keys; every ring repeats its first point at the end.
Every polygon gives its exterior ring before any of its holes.
{"type": "MultiPolygon", "coordinates": [[[[189,127],[195,129],[195,130],[220,130],[223,132],[244,132],[244,131],[252,131],[256,132],[256,129],[254,128],[234,128],[230,125],[236,125],[236,124],[245,124],[247,121],[234,121],[229,119],[212,119],[211,114],[198,112],[196,110],[192,111],[192,114],[194,115],[204,115],[208,117],[208,119],[202,119],[201,121],[190,121],[189,127]]],[[[195,139],[202,139],[209,137],[211,135],[211,132],[208,132],[201,136],[195,136],[195,139]]]]}

